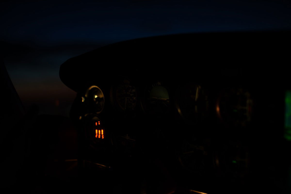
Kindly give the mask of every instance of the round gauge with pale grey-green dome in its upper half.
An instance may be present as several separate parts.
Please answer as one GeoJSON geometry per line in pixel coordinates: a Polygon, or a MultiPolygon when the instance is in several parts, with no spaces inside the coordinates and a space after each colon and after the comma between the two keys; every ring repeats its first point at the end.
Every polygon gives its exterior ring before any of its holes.
{"type": "Polygon", "coordinates": [[[162,86],[161,82],[156,82],[146,92],[146,109],[152,114],[160,114],[168,111],[170,97],[168,90],[162,86]]]}

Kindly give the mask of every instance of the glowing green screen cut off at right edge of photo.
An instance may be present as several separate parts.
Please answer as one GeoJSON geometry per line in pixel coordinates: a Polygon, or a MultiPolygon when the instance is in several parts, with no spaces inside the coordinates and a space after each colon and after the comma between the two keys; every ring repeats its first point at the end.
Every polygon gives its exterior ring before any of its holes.
{"type": "Polygon", "coordinates": [[[291,90],[285,92],[285,132],[284,138],[291,141],[291,90]]]}

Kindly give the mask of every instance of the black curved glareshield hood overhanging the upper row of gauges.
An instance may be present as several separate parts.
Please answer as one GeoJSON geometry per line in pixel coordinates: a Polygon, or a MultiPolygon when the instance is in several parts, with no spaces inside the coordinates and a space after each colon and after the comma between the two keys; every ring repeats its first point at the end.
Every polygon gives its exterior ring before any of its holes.
{"type": "Polygon", "coordinates": [[[241,66],[252,68],[243,70],[244,76],[264,76],[276,73],[266,63],[283,62],[288,55],[289,35],[289,31],[194,33],[128,40],[73,57],[61,65],[59,74],[74,91],[88,80],[104,81],[131,71],[136,76],[175,73],[179,77],[191,75],[190,67],[194,67],[199,72],[195,76],[223,78],[224,67],[241,66]]]}

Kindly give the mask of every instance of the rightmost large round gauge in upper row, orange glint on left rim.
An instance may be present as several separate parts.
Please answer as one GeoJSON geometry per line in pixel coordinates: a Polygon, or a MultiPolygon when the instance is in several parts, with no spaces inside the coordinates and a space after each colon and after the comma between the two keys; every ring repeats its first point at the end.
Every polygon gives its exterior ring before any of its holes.
{"type": "Polygon", "coordinates": [[[253,111],[251,94],[241,88],[225,90],[219,97],[216,111],[223,122],[246,126],[251,121],[253,111]]]}

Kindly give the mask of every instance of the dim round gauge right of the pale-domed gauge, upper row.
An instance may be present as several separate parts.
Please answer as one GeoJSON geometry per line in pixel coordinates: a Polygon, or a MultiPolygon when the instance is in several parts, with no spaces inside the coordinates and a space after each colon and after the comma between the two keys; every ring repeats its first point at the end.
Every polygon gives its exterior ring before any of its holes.
{"type": "Polygon", "coordinates": [[[177,110],[185,120],[191,123],[203,120],[207,115],[208,106],[208,97],[201,86],[189,84],[179,90],[177,110]]]}

